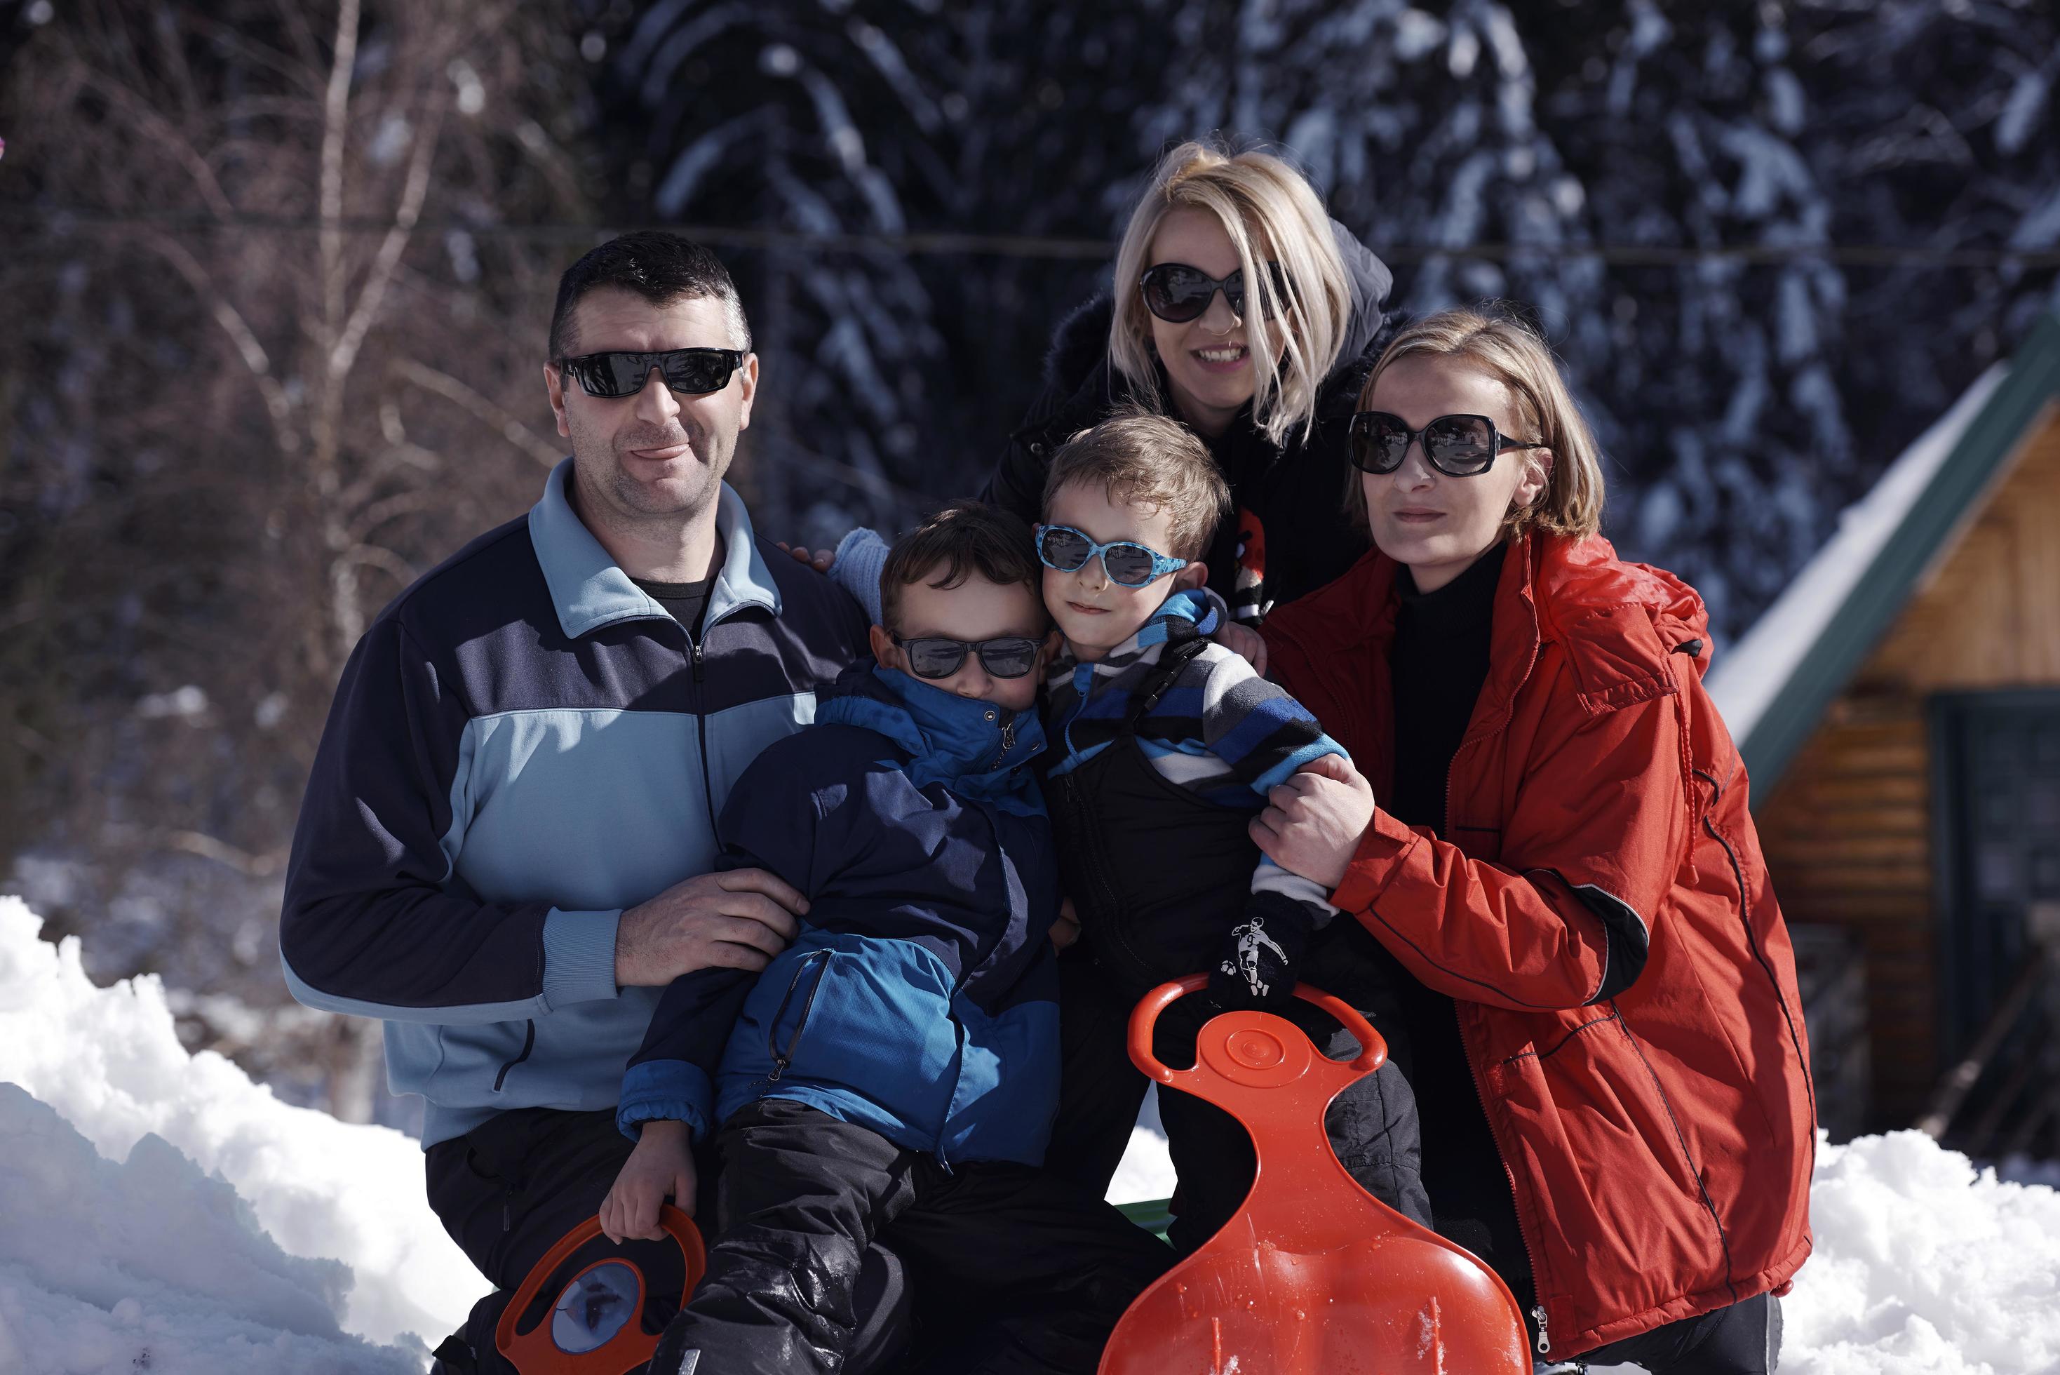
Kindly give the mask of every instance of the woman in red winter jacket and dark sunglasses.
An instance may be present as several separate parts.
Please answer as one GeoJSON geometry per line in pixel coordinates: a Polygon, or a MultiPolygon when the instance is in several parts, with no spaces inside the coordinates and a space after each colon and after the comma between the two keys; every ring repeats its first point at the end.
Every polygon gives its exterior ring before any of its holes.
{"type": "Polygon", "coordinates": [[[1594,439],[1514,320],[1409,326],[1351,427],[1376,550],[1265,639],[1360,773],[1252,833],[1421,985],[1432,1210],[1537,1350],[1772,1371],[1815,1099],[1702,598],[1596,534],[1594,439]]]}

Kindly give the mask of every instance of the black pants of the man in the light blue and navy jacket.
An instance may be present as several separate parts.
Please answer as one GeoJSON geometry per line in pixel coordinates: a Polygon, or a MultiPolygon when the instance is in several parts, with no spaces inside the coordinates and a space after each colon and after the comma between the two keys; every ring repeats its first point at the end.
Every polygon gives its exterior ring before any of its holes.
{"type": "MultiPolygon", "coordinates": [[[[428,1148],[428,1206],[457,1247],[494,1284],[466,1319],[466,1344],[478,1371],[505,1371],[494,1354],[494,1321],[531,1266],[560,1237],[602,1210],[630,1142],[614,1109],[566,1113],[525,1107],[501,1113],[466,1136],[428,1148]]],[[[715,1152],[700,1167],[696,1220],[715,1216],[715,1152]]],[[[853,1299],[859,1332],[851,1375],[898,1369],[911,1336],[908,1286],[900,1262],[880,1247],[865,1251],[853,1299]]]]}

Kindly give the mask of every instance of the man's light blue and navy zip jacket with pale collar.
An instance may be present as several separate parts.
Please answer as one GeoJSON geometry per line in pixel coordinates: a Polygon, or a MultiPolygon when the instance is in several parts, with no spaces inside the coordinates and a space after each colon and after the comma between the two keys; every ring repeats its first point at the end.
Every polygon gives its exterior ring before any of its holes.
{"type": "Polygon", "coordinates": [[[286,983],[387,1020],[424,1146],[616,1105],[661,992],[616,987],[622,909],[715,868],[731,783],[865,653],[859,606],[727,487],[694,639],[579,522],[571,472],[371,625],[293,839],[286,983]]]}

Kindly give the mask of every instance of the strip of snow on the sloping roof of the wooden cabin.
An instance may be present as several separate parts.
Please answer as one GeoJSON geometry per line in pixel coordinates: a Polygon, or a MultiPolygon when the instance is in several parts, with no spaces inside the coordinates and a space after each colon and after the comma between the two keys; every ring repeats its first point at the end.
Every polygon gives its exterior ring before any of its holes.
{"type": "Polygon", "coordinates": [[[2008,373],[2004,363],[1982,373],[1951,410],[1889,464],[1866,497],[1846,507],[1838,532],[1794,575],[1753,629],[1714,656],[1708,689],[1735,740],[1749,738],[1780,699],[1811,645],[1823,637],[1875,557],[1901,528],[1910,507],[1930,487],[2004,373],[2008,373]]]}

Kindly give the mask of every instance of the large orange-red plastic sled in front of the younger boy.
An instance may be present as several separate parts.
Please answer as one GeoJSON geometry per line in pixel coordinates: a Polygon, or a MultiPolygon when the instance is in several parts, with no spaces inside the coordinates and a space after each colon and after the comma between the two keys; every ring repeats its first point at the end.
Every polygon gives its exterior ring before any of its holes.
{"type": "Polygon", "coordinates": [[[1388,1058],[1380,1033],[1298,983],[1358,1037],[1358,1060],[1316,1053],[1271,1012],[1224,1012],[1201,1029],[1195,1068],[1168,1070],[1152,1027],[1207,983],[1145,994],[1131,1060],[1242,1121],[1259,1177],[1224,1231],[1129,1307],[1102,1375],[1531,1375],[1522,1313],[1496,1272],[1370,1196],[1331,1150],[1325,1107],[1388,1058]]]}

